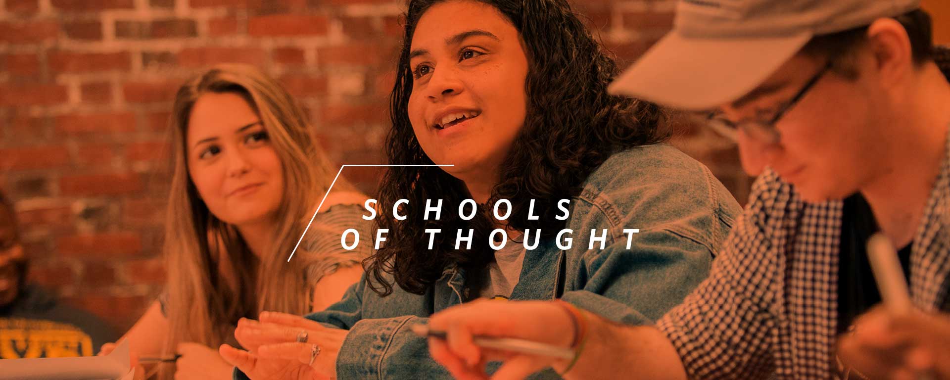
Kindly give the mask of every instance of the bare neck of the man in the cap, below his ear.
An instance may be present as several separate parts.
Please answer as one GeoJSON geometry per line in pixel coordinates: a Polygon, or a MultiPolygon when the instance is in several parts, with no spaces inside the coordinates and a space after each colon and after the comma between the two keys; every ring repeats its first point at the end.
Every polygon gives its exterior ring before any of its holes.
{"type": "Polygon", "coordinates": [[[881,174],[861,188],[883,234],[899,249],[913,241],[921,223],[946,154],[950,125],[950,85],[936,66],[921,70],[895,107],[900,111],[886,122],[886,144],[879,158],[868,162],[881,174]]]}

